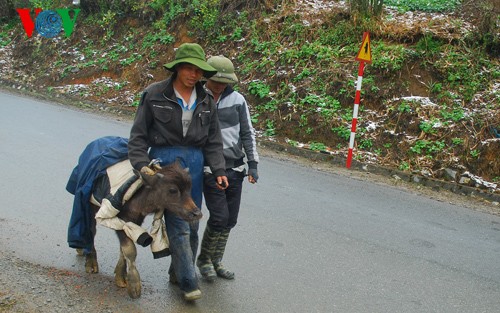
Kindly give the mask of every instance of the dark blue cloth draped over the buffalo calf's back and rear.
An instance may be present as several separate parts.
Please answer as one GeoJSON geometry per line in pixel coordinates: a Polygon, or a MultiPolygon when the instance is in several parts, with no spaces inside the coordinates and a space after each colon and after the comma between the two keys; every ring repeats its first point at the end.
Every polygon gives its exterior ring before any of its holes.
{"type": "Polygon", "coordinates": [[[90,251],[94,244],[90,196],[94,181],[113,164],[128,158],[128,139],[116,136],[98,138],[87,145],[73,169],[66,190],[75,195],[68,226],[71,248],[90,251]]]}

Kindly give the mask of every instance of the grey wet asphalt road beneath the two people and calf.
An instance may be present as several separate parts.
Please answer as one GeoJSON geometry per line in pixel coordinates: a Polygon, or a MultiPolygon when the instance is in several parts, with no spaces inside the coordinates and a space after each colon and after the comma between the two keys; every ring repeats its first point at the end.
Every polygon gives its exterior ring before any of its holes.
{"type": "MultiPolygon", "coordinates": [[[[65,185],[91,140],[128,137],[130,126],[0,93],[2,246],[84,273],[66,243],[65,185]]],[[[139,247],[143,295],[123,303],[142,312],[499,311],[500,217],[272,157],[261,158],[259,173],[244,186],[227,248],[234,281],[202,282],[203,298],[188,305],[167,282],[169,258],[139,247]]],[[[102,227],[96,241],[97,275],[112,281],[118,242],[102,227]]]]}

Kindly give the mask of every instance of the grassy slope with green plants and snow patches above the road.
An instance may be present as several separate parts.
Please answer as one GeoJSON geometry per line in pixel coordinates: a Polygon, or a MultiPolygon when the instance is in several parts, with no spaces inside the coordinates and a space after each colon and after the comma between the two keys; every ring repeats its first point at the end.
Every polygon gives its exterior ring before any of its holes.
{"type": "Polygon", "coordinates": [[[2,28],[2,58],[7,51],[13,58],[2,78],[132,113],[141,90],[166,76],[161,65],[173,47],[196,41],[208,55],[233,59],[263,136],[346,155],[354,56],[370,31],[373,62],[363,78],[355,158],[436,178],[452,168],[500,180],[492,133],[500,129],[499,60],[474,44],[472,24],[398,10],[353,24],[342,2],[315,3],[323,6],[228,11],[213,27],[182,18],[167,24],[151,8],[134,18],[82,14],[68,39],[28,39],[14,21],[2,28]]]}

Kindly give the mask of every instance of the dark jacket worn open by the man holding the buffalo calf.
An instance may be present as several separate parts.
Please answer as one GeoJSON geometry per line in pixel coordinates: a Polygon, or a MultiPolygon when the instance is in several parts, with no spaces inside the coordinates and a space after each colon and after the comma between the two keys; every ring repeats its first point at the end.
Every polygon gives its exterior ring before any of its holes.
{"type": "Polygon", "coordinates": [[[149,164],[152,146],[190,146],[203,151],[205,162],[216,176],[225,175],[222,136],[213,99],[201,83],[196,84],[197,105],[185,137],[182,108],[177,103],[172,76],[147,87],[139,103],[128,144],[132,166],[140,170],[149,164]]]}

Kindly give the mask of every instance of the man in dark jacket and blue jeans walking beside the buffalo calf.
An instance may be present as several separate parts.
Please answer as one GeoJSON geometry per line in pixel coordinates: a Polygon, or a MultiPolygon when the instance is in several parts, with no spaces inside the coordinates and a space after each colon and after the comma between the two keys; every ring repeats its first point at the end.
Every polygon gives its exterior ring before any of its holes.
{"type": "MultiPolygon", "coordinates": [[[[191,195],[201,208],[204,164],[214,173],[218,188],[228,186],[217,108],[200,83],[217,71],[195,43],[180,45],[174,61],[164,66],[173,74],[144,90],[130,131],[129,159],[135,169],[149,175],[155,174],[148,166],[152,159],[160,159],[160,165],[179,161],[189,168],[191,195]]],[[[179,284],[186,300],[199,299],[194,265],[199,224],[169,212],[164,217],[172,253],[170,281],[179,284]]]]}

